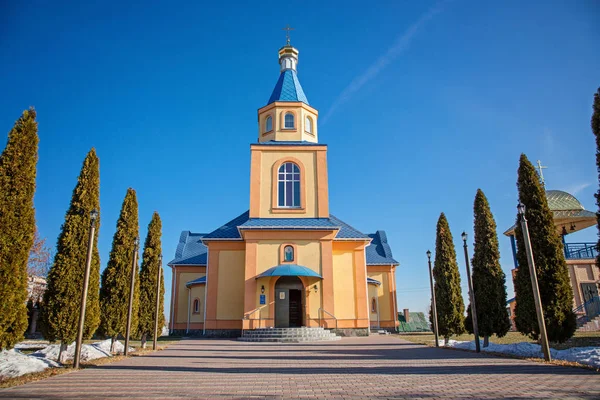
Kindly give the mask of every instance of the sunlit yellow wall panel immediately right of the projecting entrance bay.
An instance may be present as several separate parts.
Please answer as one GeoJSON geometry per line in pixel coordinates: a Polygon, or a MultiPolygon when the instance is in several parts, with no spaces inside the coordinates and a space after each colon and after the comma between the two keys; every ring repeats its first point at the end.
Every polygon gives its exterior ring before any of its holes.
{"type": "Polygon", "coordinates": [[[333,252],[333,302],[338,319],[356,318],[354,252],[333,252]]]}

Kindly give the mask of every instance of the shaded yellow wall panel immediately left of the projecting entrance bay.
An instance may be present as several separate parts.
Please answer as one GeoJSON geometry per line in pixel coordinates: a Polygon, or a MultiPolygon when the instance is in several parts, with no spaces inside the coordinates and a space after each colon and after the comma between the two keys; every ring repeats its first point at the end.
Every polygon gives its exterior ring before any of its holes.
{"type": "MultiPolygon", "coordinates": [[[[244,251],[221,250],[217,284],[217,319],[241,321],[244,313],[244,251]]],[[[211,284],[211,282],[209,282],[211,284]]]]}

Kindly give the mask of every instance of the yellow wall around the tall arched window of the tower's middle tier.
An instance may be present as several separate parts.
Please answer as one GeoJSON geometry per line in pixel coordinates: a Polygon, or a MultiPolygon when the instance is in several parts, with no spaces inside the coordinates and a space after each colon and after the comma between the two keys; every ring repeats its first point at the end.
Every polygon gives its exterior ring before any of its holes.
{"type": "MultiPolygon", "coordinates": [[[[261,157],[260,172],[260,217],[277,218],[315,218],[317,217],[317,165],[316,151],[311,152],[286,152],[286,151],[265,151],[261,157]],[[273,164],[283,158],[293,157],[299,160],[304,166],[304,190],[306,191],[305,213],[301,215],[296,213],[271,213],[272,195],[273,195],[273,164]]],[[[277,182],[275,182],[277,185],[277,182]]],[[[276,206],[276,204],[275,204],[276,206]]]]}

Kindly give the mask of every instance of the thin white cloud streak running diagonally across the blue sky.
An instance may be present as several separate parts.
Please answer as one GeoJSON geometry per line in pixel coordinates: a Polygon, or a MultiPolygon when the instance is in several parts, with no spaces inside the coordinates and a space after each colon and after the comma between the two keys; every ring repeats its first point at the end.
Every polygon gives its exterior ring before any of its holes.
{"type": "Polygon", "coordinates": [[[369,81],[373,80],[381,71],[385,69],[394,59],[404,53],[410,47],[410,44],[418,33],[418,31],[436,14],[440,13],[444,4],[447,1],[441,1],[431,7],[426,13],[413,23],[408,29],[400,35],[392,46],[380,56],[373,64],[367,68],[365,72],[355,77],[352,82],[342,91],[342,93],[334,100],[333,104],[325,114],[323,123],[326,123],[331,115],[342,105],[348,101],[356,92],[358,92],[369,81]]]}

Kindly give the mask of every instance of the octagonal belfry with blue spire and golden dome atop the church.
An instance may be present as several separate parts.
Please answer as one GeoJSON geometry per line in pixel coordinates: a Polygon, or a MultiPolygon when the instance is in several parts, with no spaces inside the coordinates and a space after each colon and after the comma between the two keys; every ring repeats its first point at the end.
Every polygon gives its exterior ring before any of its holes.
{"type": "Polygon", "coordinates": [[[298,80],[298,54],[288,37],[279,49],[279,79],[267,105],[258,110],[259,143],[318,142],[319,112],[309,105],[298,80]]]}

